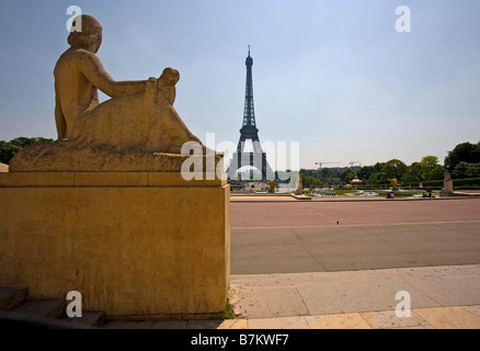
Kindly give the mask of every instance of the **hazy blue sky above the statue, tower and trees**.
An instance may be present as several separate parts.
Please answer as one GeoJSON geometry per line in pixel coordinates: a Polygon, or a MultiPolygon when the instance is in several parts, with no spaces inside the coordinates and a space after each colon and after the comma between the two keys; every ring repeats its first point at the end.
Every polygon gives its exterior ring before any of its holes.
{"type": "Polygon", "coordinates": [[[261,141],[316,161],[407,163],[480,140],[480,1],[0,1],[0,139],[56,137],[53,70],[69,5],[103,25],[116,80],[180,70],[175,107],[201,139],[237,144],[251,45],[261,141]],[[412,32],[398,33],[408,5],[412,32]]]}

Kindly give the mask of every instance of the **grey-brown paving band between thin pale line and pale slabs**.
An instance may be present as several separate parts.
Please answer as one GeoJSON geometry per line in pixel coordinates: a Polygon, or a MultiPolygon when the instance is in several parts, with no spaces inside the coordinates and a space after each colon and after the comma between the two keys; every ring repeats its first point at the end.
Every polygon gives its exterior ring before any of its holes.
{"type": "Polygon", "coordinates": [[[232,228],[231,273],[480,264],[480,220],[232,228]]]}

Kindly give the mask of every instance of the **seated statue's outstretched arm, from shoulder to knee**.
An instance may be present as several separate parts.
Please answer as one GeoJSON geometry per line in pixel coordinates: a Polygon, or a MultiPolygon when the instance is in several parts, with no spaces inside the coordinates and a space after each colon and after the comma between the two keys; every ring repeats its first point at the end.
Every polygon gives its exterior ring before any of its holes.
{"type": "Polygon", "coordinates": [[[85,78],[111,98],[135,94],[145,90],[145,80],[115,81],[103,68],[100,59],[91,53],[80,55],[80,68],[85,78]]]}

